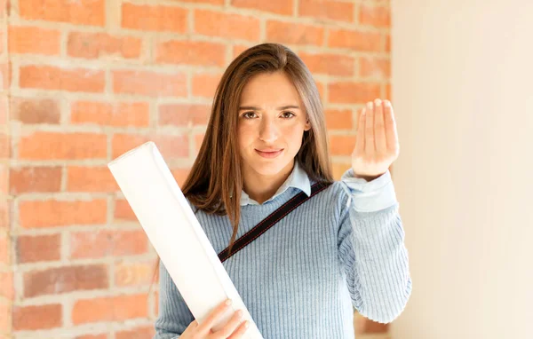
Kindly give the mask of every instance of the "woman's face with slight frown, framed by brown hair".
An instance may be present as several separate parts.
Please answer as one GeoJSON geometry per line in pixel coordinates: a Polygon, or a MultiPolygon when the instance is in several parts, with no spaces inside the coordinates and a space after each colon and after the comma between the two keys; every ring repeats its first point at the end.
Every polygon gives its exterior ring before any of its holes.
{"type": "Polygon", "coordinates": [[[252,77],[243,88],[239,108],[237,133],[243,170],[268,177],[290,169],[304,130],[311,125],[287,75],[276,72],[252,77]]]}

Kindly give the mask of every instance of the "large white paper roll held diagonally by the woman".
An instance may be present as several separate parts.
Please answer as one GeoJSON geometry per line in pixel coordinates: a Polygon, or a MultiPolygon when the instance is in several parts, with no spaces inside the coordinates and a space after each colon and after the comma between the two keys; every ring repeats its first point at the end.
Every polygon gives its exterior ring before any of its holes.
{"type": "Polygon", "coordinates": [[[230,298],[233,311],[213,329],[219,330],[234,311],[243,310],[243,320],[250,321],[243,338],[262,339],[155,143],[138,146],[107,167],[198,323],[230,298]]]}

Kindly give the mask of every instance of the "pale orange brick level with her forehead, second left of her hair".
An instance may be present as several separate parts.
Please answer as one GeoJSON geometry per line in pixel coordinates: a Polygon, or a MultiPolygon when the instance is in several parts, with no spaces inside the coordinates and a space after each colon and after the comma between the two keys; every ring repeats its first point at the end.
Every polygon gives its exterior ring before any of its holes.
{"type": "Polygon", "coordinates": [[[113,91],[150,97],[186,97],[187,75],[150,71],[114,71],[113,91]]]}

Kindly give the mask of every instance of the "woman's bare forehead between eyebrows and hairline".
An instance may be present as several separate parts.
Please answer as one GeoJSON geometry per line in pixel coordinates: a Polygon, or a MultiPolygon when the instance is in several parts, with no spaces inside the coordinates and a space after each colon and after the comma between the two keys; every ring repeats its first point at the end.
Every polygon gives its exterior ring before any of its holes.
{"type": "Polygon", "coordinates": [[[244,85],[241,105],[282,106],[299,104],[298,91],[282,72],[253,76],[244,85]]]}

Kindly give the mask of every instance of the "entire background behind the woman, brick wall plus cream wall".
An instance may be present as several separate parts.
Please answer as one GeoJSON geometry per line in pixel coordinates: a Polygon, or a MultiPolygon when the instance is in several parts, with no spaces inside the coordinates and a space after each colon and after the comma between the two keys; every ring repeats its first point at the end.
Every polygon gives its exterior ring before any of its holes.
{"type": "Polygon", "coordinates": [[[336,179],[390,99],[413,292],[358,339],[533,338],[533,3],[0,0],[0,338],[151,338],[155,251],[107,162],[154,140],[179,184],[219,77],[283,43],[336,179]]]}

